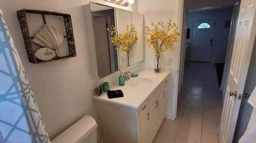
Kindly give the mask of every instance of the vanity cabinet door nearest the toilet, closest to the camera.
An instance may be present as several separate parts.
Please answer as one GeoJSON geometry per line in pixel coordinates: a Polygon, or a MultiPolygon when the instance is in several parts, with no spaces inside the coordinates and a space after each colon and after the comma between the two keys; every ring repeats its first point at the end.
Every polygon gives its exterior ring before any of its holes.
{"type": "Polygon", "coordinates": [[[148,112],[146,112],[138,121],[138,143],[149,143],[148,137],[148,112]]]}

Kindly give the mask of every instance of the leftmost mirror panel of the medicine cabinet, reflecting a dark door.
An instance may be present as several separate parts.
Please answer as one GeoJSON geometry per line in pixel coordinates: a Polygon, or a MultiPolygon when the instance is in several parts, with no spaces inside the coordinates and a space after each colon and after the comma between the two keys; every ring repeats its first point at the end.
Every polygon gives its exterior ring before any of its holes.
{"type": "Polygon", "coordinates": [[[99,79],[119,70],[118,51],[107,28],[115,26],[114,8],[90,3],[99,79]]]}

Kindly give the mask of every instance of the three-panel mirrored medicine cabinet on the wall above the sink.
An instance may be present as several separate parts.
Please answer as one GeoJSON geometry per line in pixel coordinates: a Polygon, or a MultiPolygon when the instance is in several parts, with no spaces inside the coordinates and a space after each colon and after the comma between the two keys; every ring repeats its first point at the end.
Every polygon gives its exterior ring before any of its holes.
{"type": "MultiPolygon", "coordinates": [[[[143,14],[94,2],[90,2],[90,12],[92,19],[88,21],[92,21],[99,79],[144,60],[143,14]],[[127,56],[127,51],[120,50],[120,48],[116,50],[116,46],[111,43],[111,38],[114,36],[118,34],[120,36],[123,32],[130,32],[130,29],[126,29],[127,25],[134,26],[137,32],[137,42],[130,48],[129,56],[127,56]],[[113,35],[107,30],[112,27],[116,29],[116,33],[113,35]]],[[[135,36],[132,35],[132,37],[135,36]]],[[[121,41],[119,37],[117,39],[117,42],[121,41]]]]}

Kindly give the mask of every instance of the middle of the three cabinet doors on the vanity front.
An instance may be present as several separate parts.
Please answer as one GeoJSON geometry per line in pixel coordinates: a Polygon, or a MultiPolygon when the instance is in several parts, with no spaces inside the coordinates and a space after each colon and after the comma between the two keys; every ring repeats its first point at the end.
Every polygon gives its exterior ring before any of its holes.
{"type": "Polygon", "coordinates": [[[148,138],[152,143],[156,135],[156,102],[153,102],[148,109],[148,138]]]}

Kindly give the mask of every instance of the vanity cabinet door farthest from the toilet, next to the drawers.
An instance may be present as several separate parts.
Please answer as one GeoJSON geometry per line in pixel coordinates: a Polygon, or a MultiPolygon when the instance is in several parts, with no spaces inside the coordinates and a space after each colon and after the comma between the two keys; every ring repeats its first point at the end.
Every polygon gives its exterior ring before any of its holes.
{"type": "Polygon", "coordinates": [[[163,115],[162,115],[162,92],[159,93],[158,98],[156,100],[157,106],[156,106],[156,131],[160,128],[162,121],[163,121],[163,115]]]}

